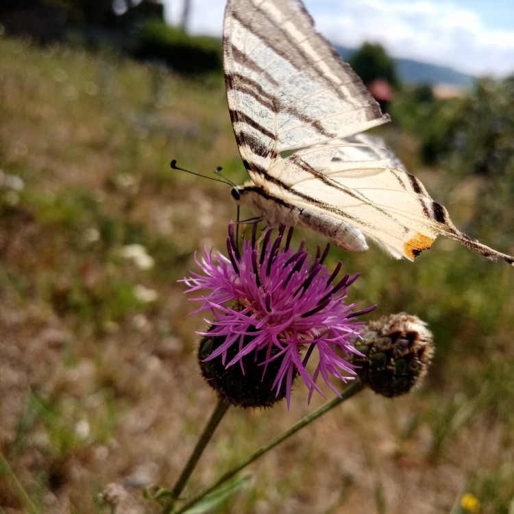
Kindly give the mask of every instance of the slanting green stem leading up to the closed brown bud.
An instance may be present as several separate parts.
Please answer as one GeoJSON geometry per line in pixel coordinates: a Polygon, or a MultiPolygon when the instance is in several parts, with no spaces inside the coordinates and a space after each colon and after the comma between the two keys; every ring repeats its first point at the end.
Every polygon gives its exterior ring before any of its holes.
{"type": "Polygon", "coordinates": [[[204,496],[208,495],[209,493],[212,493],[212,491],[215,491],[223,482],[226,482],[232,476],[234,476],[236,473],[240,472],[241,469],[247,467],[247,465],[252,464],[254,461],[256,461],[262,454],[265,454],[266,452],[269,452],[272,448],[275,448],[278,444],[282,443],[282,441],[285,441],[288,437],[295,434],[300,428],[304,428],[304,426],[307,426],[308,424],[315,421],[315,419],[318,419],[323,414],[330,411],[332,408],[338,406],[345,400],[348,400],[350,397],[356,395],[356,393],[362,391],[365,388],[365,386],[360,382],[360,380],[354,380],[350,386],[348,386],[342,393],[341,397],[336,397],[334,400],[327,402],[323,406],[317,409],[317,411],[314,411],[312,414],[309,414],[308,416],[304,417],[303,419],[300,419],[300,421],[297,422],[297,424],[293,425],[291,428],[286,430],[285,432],[282,432],[282,434],[278,435],[274,439],[271,439],[269,443],[266,443],[265,445],[261,446],[256,452],[254,452],[249,457],[245,458],[244,461],[241,461],[236,467],[233,467],[230,469],[230,471],[223,474],[216,482],[209,485],[205,489],[202,489],[194,495],[192,498],[190,498],[184,505],[178,509],[178,511],[175,511],[174,514],[181,514],[185,512],[187,509],[190,509],[191,506],[193,506],[195,503],[199,502],[204,496]]]}

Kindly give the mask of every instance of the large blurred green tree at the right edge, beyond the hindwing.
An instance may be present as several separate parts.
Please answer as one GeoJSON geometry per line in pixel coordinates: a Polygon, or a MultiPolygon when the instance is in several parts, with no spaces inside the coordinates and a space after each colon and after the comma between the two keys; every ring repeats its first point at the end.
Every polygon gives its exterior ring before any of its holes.
{"type": "Polygon", "coordinates": [[[432,103],[417,130],[424,162],[439,162],[462,184],[474,184],[467,230],[479,238],[498,231],[507,245],[514,225],[513,98],[514,75],[483,77],[462,97],[432,103]]]}

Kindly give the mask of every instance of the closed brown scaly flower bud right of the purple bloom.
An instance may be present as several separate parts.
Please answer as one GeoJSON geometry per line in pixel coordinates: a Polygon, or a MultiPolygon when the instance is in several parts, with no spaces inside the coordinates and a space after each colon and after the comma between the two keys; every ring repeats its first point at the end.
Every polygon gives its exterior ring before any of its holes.
{"type": "Polygon", "coordinates": [[[426,323],[406,313],[384,316],[367,324],[356,343],[352,364],[370,389],[387,397],[408,393],[426,374],[433,354],[432,332],[426,323]]]}

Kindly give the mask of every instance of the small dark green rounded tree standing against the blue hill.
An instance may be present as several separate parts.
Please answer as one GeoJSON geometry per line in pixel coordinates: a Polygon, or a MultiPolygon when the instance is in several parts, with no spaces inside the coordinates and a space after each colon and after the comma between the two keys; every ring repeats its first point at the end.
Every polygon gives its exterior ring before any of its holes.
{"type": "Polygon", "coordinates": [[[393,87],[400,85],[395,63],[387,55],[382,45],[365,42],[348,62],[366,86],[377,79],[386,80],[393,87]]]}

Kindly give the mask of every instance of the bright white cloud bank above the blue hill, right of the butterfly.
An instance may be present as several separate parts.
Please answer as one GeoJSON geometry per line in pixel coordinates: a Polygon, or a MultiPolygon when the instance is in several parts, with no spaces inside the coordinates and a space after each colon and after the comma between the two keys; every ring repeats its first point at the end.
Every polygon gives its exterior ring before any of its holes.
{"type": "Polygon", "coordinates": [[[358,46],[380,42],[393,56],[452,66],[469,73],[514,71],[512,31],[485,27],[476,12],[452,3],[363,0],[333,2],[317,13],[307,0],[316,25],[330,40],[358,46]]]}

